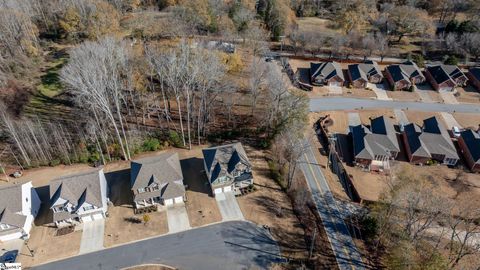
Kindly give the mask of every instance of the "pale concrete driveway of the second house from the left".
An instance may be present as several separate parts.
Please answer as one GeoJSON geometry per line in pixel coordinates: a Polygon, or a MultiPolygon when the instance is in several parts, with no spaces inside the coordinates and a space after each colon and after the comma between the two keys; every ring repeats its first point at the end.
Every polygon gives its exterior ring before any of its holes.
{"type": "Polygon", "coordinates": [[[80,242],[80,254],[103,249],[104,231],[105,219],[85,222],[80,242]]]}

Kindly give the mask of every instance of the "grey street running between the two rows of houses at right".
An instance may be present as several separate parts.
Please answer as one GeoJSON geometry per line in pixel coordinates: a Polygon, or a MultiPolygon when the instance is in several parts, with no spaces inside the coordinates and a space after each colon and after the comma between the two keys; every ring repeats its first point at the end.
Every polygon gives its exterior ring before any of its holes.
{"type": "Polygon", "coordinates": [[[310,111],[352,110],[360,108],[389,108],[428,112],[480,113],[480,106],[474,104],[443,104],[408,101],[375,100],[349,97],[322,97],[310,99],[310,111]]]}

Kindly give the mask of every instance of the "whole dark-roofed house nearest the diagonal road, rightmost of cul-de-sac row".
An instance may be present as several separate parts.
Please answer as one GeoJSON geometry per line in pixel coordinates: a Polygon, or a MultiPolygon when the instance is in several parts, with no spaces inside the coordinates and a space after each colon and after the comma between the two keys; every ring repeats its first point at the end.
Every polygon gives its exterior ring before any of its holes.
{"type": "Polygon", "coordinates": [[[206,148],[202,152],[212,194],[238,193],[253,184],[252,165],[241,143],[206,148]]]}

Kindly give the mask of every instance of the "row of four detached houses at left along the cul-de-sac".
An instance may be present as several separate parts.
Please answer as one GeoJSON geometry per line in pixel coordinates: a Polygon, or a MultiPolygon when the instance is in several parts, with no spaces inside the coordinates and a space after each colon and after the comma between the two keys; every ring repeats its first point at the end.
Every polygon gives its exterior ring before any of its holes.
{"type": "MultiPolygon", "coordinates": [[[[241,143],[203,149],[212,195],[238,194],[253,184],[252,167],[241,143]]],[[[184,203],[185,184],[177,153],[131,162],[130,188],[135,209],[184,203]]],[[[103,168],[50,181],[50,201],[41,202],[32,182],[0,188],[0,241],[26,239],[40,205],[48,203],[57,227],[104,219],[112,195],[103,168]]]]}

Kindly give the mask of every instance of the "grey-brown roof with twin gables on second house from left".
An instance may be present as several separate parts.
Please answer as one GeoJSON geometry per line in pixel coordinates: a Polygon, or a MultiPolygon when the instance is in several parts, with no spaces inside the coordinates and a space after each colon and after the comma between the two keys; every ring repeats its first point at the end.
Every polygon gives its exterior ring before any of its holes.
{"type": "Polygon", "coordinates": [[[50,182],[50,201],[54,203],[58,198],[67,200],[75,206],[87,202],[102,207],[100,169],[52,180],[50,182]]]}

